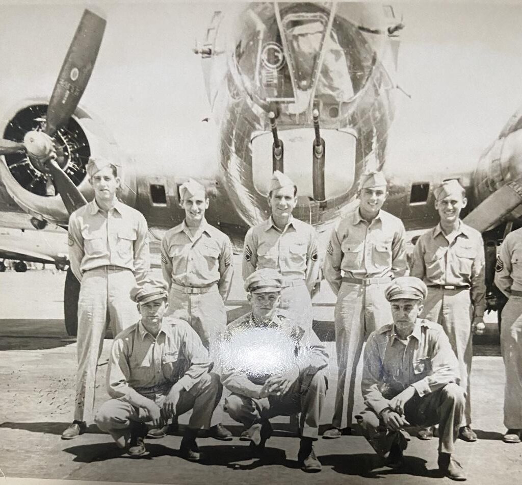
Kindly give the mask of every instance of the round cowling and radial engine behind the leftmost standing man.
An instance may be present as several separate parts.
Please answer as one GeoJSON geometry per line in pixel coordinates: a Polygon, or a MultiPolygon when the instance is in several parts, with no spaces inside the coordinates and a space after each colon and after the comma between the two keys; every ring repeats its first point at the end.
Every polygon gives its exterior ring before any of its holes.
{"type": "MultiPolygon", "coordinates": [[[[0,124],[3,138],[22,141],[31,129],[40,129],[48,101],[45,98],[25,100],[11,109],[0,124]]],[[[103,156],[114,160],[121,176],[122,190],[118,198],[128,205],[136,204],[136,176],[132,165],[101,120],[77,107],[68,124],[56,131],[53,140],[58,147],[58,164],[87,200],[94,196],[87,178],[87,162],[90,156],[103,156]]],[[[0,180],[11,198],[28,214],[59,226],[67,225],[69,214],[62,198],[26,153],[0,157],[0,180]]]]}

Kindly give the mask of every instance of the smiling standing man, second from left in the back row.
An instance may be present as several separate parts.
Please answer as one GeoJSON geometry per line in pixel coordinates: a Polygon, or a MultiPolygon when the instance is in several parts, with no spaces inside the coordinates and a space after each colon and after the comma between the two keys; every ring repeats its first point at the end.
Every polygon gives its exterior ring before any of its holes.
{"type": "MultiPolygon", "coordinates": [[[[209,198],[203,185],[189,180],[180,187],[180,197],[185,220],[161,241],[161,268],[170,289],[168,314],[186,319],[210,349],[227,325],[224,301],[232,283],[232,243],[206,221],[209,198]]],[[[214,421],[218,419],[219,412],[214,421]]],[[[156,437],[166,431],[164,427],[156,437]]],[[[232,439],[219,422],[210,433],[221,440],[232,439]]]]}

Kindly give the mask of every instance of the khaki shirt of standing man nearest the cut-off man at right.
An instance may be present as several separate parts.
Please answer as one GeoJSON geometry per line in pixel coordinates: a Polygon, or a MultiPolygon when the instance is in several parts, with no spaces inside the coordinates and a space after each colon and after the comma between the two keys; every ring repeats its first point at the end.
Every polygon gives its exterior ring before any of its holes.
{"type": "Polygon", "coordinates": [[[446,239],[440,223],[422,234],[413,250],[410,275],[427,286],[469,285],[473,315],[484,315],[484,243],[480,232],[464,222],[453,241],[446,239]]]}

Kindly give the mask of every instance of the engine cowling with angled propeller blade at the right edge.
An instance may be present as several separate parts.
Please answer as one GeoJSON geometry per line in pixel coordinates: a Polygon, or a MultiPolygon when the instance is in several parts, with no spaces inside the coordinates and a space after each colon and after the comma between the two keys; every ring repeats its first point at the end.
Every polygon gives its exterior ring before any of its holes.
{"type": "Polygon", "coordinates": [[[522,108],[482,153],[472,177],[474,205],[464,219],[484,232],[522,216],[522,108]]]}

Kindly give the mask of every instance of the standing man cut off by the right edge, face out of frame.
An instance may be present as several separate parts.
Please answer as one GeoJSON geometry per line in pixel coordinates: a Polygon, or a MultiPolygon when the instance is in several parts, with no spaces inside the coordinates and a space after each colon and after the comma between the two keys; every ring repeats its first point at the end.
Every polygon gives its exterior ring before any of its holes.
{"type": "Polygon", "coordinates": [[[497,257],[495,285],[508,298],[502,310],[500,347],[506,384],[504,387],[504,435],[506,443],[522,438],[522,229],[510,232],[497,257]]]}

